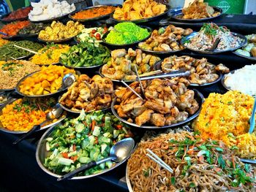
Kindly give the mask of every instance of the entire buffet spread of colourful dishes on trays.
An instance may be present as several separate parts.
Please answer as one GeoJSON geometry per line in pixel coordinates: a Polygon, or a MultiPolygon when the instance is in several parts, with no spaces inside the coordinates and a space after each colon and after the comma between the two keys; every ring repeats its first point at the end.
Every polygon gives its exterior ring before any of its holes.
{"type": "MultiPolygon", "coordinates": [[[[215,23],[204,23],[198,32],[148,27],[150,20],[169,17],[169,9],[153,0],[81,10],[67,1],[41,0],[5,15],[0,131],[26,134],[35,125],[50,127],[39,140],[37,163],[59,179],[86,164],[94,166],[73,179],[94,177],[129,158],[129,191],[255,191],[255,167],[244,159],[256,159],[250,128],[256,65],[230,71],[207,55],[183,51],[233,51],[252,60],[256,34],[244,37],[215,23]],[[69,20],[62,23],[65,17],[69,20]],[[102,18],[116,24],[83,25],[102,18]],[[195,89],[218,82],[226,93],[204,98],[195,89]],[[64,111],[59,116],[51,114],[56,107],[64,111]],[[95,163],[125,138],[138,143],[127,157],[95,163]]],[[[196,0],[175,19],[220,15],[222,9],[196,0]]]]}

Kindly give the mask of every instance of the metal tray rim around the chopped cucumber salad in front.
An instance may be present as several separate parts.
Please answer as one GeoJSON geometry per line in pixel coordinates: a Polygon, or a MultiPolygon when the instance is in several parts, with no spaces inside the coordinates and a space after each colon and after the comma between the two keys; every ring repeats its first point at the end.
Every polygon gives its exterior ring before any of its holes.
{"type": "MultiPolygon", "coordinates": [[[[58,125],[59,124],[61,124],[61,123],[58,123],[58,125]]],[[[51,172],[50,170],[48,170],[44,166],[45,158],[48,156],[48,152],[45,150],[46,138],[50,137],[50,135],[54,131],[55,126],[56,125],[49,128],[48,131],[46,131],[45,134],[43,134],[41,139],[39,140],[38,145],[37,145],[37,151],[36,151],[36,159],[37,159],[37,164],[39,165],[39,167],[44,172],[46,172],[47,174],[50,174],[53,177],[61,177],[61,175],[51,172]]],[[[100,174],[105,174],[105,173],[110,172],[111,170],[115,169],[116,167],[120,166],[121,164],[124,164],[124,162],[127,161],[128,158],[129,158],[129,156],[127,158],[125,158],[123,161],[116,164],[115,166],[111,167],[110,169],[105,169],[102,172],[98,172],[97,174],[90,174],[90,175],[87,175],[87,176],[72,177],[71,180],[83,180],[83,179],[88,179],[88,178],[91,178],[91,177],[98,176],[100,174]]]]}

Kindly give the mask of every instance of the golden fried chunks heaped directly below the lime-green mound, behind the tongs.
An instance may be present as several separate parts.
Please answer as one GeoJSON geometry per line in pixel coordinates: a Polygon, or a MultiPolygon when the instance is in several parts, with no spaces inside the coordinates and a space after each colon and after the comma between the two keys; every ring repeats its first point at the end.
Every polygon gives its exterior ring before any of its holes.
{"type": "Polygon", "coordinates": [[[111,60],[102,66],[102,75],[111,80],[135,80],[138,74],[147,74],[154,69],[154,64],[161,59],[155,55],[148,55],[141,50],[119,49],[111,52],[111,60]]]}

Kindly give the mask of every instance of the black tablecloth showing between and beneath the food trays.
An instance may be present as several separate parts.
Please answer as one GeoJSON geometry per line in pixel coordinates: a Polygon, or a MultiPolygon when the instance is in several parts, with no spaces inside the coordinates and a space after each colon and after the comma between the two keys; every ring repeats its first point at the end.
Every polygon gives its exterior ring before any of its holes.
{"type": "MultiPolygon", "coordinates": [[[[191,28],[198,28],[202,24],[170,22],[176,26],[191,28]]],[[[214,22],[223,24],[232,31],[241,34],[251,34],[256,32],[255,15],[222,15],[221,18],[214,22]]],[[[233,53],[200,55],[190,51],[184,51],[183,53],[179,53],[179,55],[192,55],[198,58],[206,57],[208,58],[208,61],[214,64],[225,64],[230,67],[230,69],[238,69],[246,64],[252,63],[233,53]]],[[[198,88],[198,90],[203,93],[205,97],[211,92],[225,93],[225,89],[220,82],[209,87],[198,88]]],[[[112,172],[102,174],[99,177],[87,180],[67,180],[64,182],[57,182],[56,178],[43,172],[37,165],[35,150],[37,142],[42,134],[43,132],[41,131],[30,139],[26,139],[25,141],[20,142],[17,146],[14,146],[12,145],[12,142],[17,139],[18,136],[0,131],[0,187],[7,188],[7,191],[14,191],[17,189],[20,191],[128,191],[124,179],[126,164],[119,166],[112,172]]]]}

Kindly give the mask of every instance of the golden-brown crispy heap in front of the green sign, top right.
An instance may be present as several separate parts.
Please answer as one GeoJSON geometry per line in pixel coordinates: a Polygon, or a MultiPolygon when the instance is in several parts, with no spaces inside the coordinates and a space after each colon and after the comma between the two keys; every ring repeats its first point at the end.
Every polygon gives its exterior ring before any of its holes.
{"type": "Polygon", "coordinates": [[[208,3],[204,3],[200,0],[195,0],[189,7],[182,9],[182,19],[203,19],[203,18],[214,18],[220,15],[220,12],[215,11],[213,7],[209,6],[208,3]]]}

